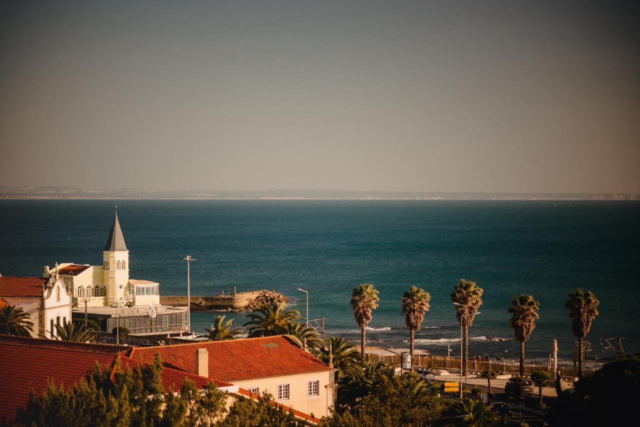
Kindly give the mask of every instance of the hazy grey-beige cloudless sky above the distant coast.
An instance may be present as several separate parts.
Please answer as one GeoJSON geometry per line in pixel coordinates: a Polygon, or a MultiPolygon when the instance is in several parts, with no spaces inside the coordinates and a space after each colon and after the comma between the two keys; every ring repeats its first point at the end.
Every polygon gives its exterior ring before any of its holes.
{"type": "Polygon", "coordinates": [[[640,193],[638,22],[620,1],[4,0],[0,184],[640,193]]]}

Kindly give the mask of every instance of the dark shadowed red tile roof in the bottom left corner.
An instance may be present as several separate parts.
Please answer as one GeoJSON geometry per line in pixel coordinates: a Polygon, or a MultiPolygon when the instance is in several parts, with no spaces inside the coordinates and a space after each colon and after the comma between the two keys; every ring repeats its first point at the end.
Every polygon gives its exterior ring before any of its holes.
{"type": "Polygon", "coordinates": [[[36,395],[47,389],[47,382],[70,389],[81,382],[95,362],[110,369],[122,346],[84,344],[27,337],[0,335],[0,417],[15,417],[15,409],[24,405],[29,388],[36,395]]]}

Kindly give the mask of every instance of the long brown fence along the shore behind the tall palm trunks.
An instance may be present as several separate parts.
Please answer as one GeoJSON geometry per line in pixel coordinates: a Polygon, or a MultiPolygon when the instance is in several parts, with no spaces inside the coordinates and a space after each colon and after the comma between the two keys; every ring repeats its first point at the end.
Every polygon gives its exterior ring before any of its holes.
{"type": "MultiPolygon", "coordinates": [[[[376,355],[376,354],[367,354],[367,360],[369,362],[384,362],[385,364],[390,365],[401,365],[401,355],[376,355]]],[[[460,358],[449,357],[446,356],[433,356],[433,355],[415,355],[413,356],[413,366],[424,366],[424,367],[433,367],[438,369],[451,369],[456,372],[460,372],[460,358]]],[[[468,359],[467,360],[467,370],[471,372],[482,372],[486,369],[490,369],[497,373],[506,373],[506,374],[517,374],[518,369],[520,368],[519,364],[511,364],[507,362],[501,362],[499,360],[476,360],[476,359],[468,359]]],[[[558,369],[560,369],[561,376],[575,377],[578,376],[577,373],[573,370],[573,366],[565,366],[558,365],[558,369]]],[[[550,374],[553,374],[551,371],[553,370],[553,366],[549,366],[548,364],[542,365],[525,365],[524,373],[525,375],[531,375],[536,371],[547,371],[550,374]]],[[[584,375],[589,376],[593,375],[595,369],[593,368],[584,368],[584,375]]]]}

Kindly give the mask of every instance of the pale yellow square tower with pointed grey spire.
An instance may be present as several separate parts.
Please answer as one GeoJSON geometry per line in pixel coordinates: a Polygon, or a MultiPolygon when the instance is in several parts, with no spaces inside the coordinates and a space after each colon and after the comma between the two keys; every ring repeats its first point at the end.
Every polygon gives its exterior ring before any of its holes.
{"type": "Polygon", "coordinates": [[[109,304],[113,304],[127,294],[129,283],[129,250],[124,244],[117,208],[116,218],[102,252],[102,261],[102,282],[107,288],[109,304]]]}

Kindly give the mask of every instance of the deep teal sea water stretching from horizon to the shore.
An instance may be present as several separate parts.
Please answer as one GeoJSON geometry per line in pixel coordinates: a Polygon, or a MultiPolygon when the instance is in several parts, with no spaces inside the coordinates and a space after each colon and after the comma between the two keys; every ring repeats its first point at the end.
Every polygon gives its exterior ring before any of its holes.
{"type": "MultiPolygon", "coordinates": [[[[130,250],[131,278],[154,280],[163,294],[268,288],[292,298],[304,316],[326,317],[328,334],[357,340],[348,302],[363,282],[380,290],[369,342],[406,347],[400,311],[404,289],[431,293],[417,347],[457,352],[460,329],[449,300],[460,279],[484,288],[481,314],[470,329],[470,354],[516,359],[507,308],[529,293],[541,303],[527,355],[547,360],[552,339],[570,358],[573,336],[564,309],[575,287],[600,299],[588,336],[591,359],[612,357],[600,340],[623,335],[640,351],[640,203],[508,201],[193,201],[0,200],[0,273],[40,275],[44,265],[99,265],[118,204],[130,250]]],[[[196,312],[204,332],[214,313],[196,312]]],[[[244,322],[244,315],[228,317],[244,322]]]]}

